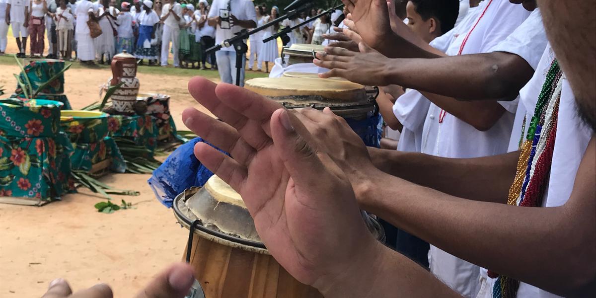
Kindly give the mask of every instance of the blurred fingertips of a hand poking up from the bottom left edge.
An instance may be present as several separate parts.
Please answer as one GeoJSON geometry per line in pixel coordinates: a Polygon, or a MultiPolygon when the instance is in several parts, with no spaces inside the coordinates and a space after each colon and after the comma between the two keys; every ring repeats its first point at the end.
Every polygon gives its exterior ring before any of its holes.
{"type": "MultiPolygon", "coordinates": [[[[136,298],[184,298],[193,285],[193,268],[185,263],[170,266],[162,271],[136,298]]],[[[107,284],[94,285],[73,294],[70,285],[59,278],[49,284],[42,298],[111,298],[113,293],[107,284]]]]}

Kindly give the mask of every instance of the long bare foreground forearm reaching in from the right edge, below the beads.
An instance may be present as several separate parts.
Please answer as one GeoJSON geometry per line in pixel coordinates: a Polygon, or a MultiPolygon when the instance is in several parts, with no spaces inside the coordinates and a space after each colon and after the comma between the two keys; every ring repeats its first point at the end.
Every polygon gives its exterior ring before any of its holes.
{"type": "Polygon", "coordinates": [[[587,194],[592,203],[574,213],[567,206],[465,200],[390,175],[375,176],[375,181],[377,187],[369,193],[373,199],[364,209],[398,228],[468,262],[545,290],[564,296],[594,294],[593,184],[587,194]]]}

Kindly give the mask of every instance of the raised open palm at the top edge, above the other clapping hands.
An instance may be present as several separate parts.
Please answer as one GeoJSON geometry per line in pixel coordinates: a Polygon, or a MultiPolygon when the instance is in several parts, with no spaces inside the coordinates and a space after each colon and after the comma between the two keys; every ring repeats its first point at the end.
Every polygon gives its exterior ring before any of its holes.
{"type": "MultiPolygon", "coordinates": [[[[385,0],[342,0],[350,14],[346,18],[355,24],[364,42],[377,48],[393,35],[385,0]]],[[[345,21],[345,20],[344,20],[345,21]]]]}

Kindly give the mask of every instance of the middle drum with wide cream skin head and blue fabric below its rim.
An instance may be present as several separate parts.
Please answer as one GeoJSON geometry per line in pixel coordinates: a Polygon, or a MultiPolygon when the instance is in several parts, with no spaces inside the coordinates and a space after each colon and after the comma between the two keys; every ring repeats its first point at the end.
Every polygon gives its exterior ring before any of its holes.
{"type": "Polygon", "coordinates": [[[330,107],[362,138],[364,144],[378,147],[381,119],[374,98],[364,86],[342,79],[319,77],[259,77],[247,80],[244,88],[271,98],[286,108],[330,107]]]}

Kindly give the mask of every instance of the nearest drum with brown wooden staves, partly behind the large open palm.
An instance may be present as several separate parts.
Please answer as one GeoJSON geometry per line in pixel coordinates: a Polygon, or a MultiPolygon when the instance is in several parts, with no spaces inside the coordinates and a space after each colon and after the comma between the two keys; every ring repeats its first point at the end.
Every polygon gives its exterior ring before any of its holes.
{"type": "MultiPolygon", "coordinates": [[[[203,188],[191,188],[173,202],[178,222],[190,228],[190,264],[206,298],[319,298],[321,293],[291,277],[259,238],[244,201],[228,184],[212,176],[203,188]]],[[[383,229],[365,218],[378,239],[383,229]]]]}

